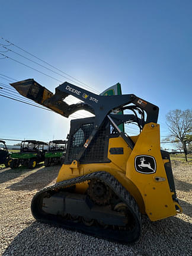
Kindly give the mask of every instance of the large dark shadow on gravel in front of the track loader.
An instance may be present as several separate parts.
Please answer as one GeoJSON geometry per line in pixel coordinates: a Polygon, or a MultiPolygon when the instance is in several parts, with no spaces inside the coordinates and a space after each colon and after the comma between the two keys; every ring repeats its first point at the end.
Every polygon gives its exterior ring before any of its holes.
{"type": "Polygon", "coordinates": [[[139,242],[122,245],[89,236],[89,242],[92,244],[91,251],[85,251],[87,235],[84,233],[71,232],[68,229],[33,222],[14,238],[2,255],[34,255],[34,252],[36,252],[35,255],[73,255],[73,248],[75,249],[76,246],[78,246],[79,255],[121,255],[120,252],[126,251],[126,255],[129,255],[129,250],[134,253],[131,255],[135,256],[149,256],[152,253],[154,255],[169,255],[169,249],[170,253],[172,251],[171,248],[175,248],[178,255],[185,255],[183,254],[183,248],[188,248],[190,244],[190,223],[184,222],[178,217],[150,222],[145,216],[142,222],[142,236],[139,242]],[[185,241],[180,229],[185,230],[185,241]],[[59,239],[53,239],[56,233],[59,234],[59,239]],[[164,244],[163,249],[159,247],[159,239],[161,244],[164,244]],[[178,241],[177,244],[175,244],[175,241],[178,241]],[[19,251],[15,251],[17,248],[19,248],[19,251]],[[146,248],[148,248],[148,251],[146,251],[146,248]],[[119,253],[117,253],[118,251],[119,253]]]}

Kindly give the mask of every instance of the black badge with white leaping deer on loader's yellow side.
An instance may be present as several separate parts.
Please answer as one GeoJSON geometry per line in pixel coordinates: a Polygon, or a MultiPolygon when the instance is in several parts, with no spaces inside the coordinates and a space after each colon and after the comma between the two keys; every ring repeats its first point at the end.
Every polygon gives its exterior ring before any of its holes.
{"type": "Polygon", "coordinates": [[[139,155],[135,158],[135,169],[143,174],[153,174],[156,172],[156,161],[153,156],[139,155]]]}

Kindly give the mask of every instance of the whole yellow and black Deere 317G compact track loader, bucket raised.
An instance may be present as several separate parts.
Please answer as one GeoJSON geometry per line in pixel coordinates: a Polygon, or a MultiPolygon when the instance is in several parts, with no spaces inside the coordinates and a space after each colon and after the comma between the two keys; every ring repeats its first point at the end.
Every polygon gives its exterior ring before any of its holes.
{"type": "Polygon", "coordinates": [[[134,94],[96,95],[68,82],[54,95],[33,79],[11,85],[64,117],[78,110],[95,115],[71,121],[56,184],[31,202],[38,221],[129,243],[139,239],[141,214],[156,221],[182,212],[169,153],[160,149],[156,105],[134,94]],[[68,95],[83,102],[68,105],[68,95]],[[133,114],[118,114],[124,110],[133,114]],[[139,135],[126,135],[123,123],[137,124],[139,135]]]}

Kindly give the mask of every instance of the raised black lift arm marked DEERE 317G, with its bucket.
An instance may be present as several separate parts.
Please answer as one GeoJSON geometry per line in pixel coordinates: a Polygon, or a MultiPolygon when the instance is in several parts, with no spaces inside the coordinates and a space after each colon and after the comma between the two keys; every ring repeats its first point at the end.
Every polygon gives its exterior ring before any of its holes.
{"type": "Polygon", "coordinates": [[[145,123],[156,123],[158,120],[159,108],[134,94],[97,95],[68,82],[56,87],[55,94],[53,94],[53,92],[38,84],[34,79],[14,82],[10,85],[24,97],[30,98],[64,117],[69,117],[78,110],[87,110],[95,115],[95,127],[99,127],[111,111],[118,111],[130,103],[145,110],[147,114],[145,123]],[[63,101],[68,95],[72,95],[84,102],[69,105],[63,101]]]}

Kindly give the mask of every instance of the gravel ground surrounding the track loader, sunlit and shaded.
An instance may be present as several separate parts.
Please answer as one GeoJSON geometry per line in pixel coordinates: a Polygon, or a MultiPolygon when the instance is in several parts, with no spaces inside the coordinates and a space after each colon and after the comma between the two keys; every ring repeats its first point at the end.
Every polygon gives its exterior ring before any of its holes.
{"type": "Polygon", "coordinates": [[[30,202],[41,188],[54,184],[59,167],[0,170],[1,255],[192,255],[192,165],[172,161],[183,214],[150,222],[142,217],[139,242],[121,245],[34,221],[30,202]]]}

